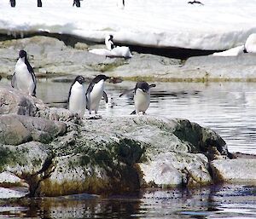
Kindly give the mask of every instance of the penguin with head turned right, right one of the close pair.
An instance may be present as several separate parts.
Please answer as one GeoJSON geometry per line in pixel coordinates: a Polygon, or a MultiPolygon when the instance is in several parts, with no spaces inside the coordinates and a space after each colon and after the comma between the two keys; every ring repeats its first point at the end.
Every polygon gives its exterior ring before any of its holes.
{"type": "Polygon", "coordinates": [[[106,75],[100,74],[90,82],[89,87],[86,90],[86,109],[89,110],[90,114],[93,110],[95,114],[98,112],[102,96],[106,103],[108,103],[108,95],[104,91],[104,82],[108,79],[109,77],[106,75]]]}

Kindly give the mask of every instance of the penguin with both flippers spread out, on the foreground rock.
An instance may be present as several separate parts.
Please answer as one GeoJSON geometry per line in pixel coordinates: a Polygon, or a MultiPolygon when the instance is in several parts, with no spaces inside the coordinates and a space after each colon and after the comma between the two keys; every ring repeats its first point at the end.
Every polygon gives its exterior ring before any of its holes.
{"type": "Polygon", "coordinates": [[[134,106],[135,110],[131,112],[131,114],[139,114],[139,112],[143,112],[143,114],[146,114],[146,110],[149,107],[150,103],[150,88],[154,88],[155,84],[148,84],[147,82],[137,82],[134,89],[126,90],[123,94],[119,95],[121,97],[122,95],[134,92],[134,106]]]}

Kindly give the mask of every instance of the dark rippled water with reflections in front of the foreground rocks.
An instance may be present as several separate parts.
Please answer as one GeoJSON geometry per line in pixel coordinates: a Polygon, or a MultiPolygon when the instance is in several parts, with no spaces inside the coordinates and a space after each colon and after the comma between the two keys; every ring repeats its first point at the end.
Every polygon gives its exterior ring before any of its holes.
{"type": "Polygon", "coordinates": [[[146,190],[108,199],[86,194],[0,204],[15,218],[255,218],[255,187],[146,190]]]}

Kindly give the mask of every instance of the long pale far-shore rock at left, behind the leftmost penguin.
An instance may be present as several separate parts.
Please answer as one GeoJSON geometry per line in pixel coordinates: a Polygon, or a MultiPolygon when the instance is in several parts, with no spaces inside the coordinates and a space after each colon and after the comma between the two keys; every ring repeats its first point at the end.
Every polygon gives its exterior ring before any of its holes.
{"type": "MultiPolygon", "coordinates": [[[[96,45],[95,47],[105,48],[105,45],[96,45]]],[[[54,37],[43,36],[3,41],[0,43],[0,72],[6,75],[13,74],[18,56],[17,49],[27,51],[36,76],[40,75],[41,77],[49,74],[86,74],[86,77],[92,78],[96,74],[106,72],[110,76],[118,75],[131,78],[135,73],[136,76],[140,76],[141,72],[143,74],[147,72],[147,76],[149,76],[152,71],[164,75],[166,70],[172,68],[168,65],[180,62],[158,55],[139,55],[137,53],[130,60],[106,58],[104,55],[91,54],[86,48],[84,43],[76,43],[75,48],[71,48],[54,37]],[[122,68],[118,69],[119,66],[122,68]],[[131,72],[132,75],[130,75],[131,72]]],[[[126,47],[119,47],[118,50],[125,57],[127,53],[128,56],[131,56],[129,48],[127,50],[126,47]],[[123,54],[124,52],[125,54],[123,54]]],[[[116,55],[119,53],[114,54],[114,56],[116,55]]]]}

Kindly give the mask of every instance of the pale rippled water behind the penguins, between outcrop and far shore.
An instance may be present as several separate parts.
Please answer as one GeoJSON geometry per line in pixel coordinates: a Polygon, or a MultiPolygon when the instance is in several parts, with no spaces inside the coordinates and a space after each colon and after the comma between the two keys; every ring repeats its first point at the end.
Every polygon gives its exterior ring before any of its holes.
{"type": "MultiPolygon", "coordinates": [[[[256,84],[254,83],[157,83],[151,89],[148,115],[187,118],[221,135],[230,152],[256,154],[256,84]]],[[[85,85],[86,88],[88,84],[85,85]]],[[[119,94],[132,89],[133,82],[107,84],[113,107],[101,102],[102,116],[128,115],[134,110],[131,96],[119,94]]],[[[70,83],[41,80],[38,97],[50,107],[67,107],[70,83]]],[[[87,113],[87,112],[86,112],[87,113]]],[[[88,115],[88,114],[87,114],[88,115]]],[[[86,116],[86,114],[85,114],[86,116]]]]}

